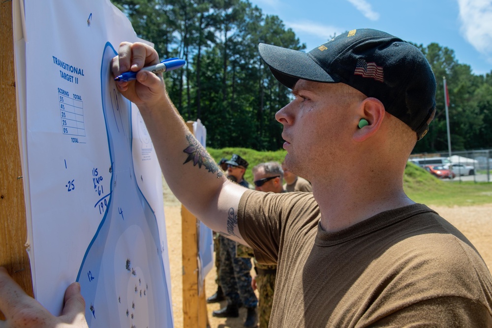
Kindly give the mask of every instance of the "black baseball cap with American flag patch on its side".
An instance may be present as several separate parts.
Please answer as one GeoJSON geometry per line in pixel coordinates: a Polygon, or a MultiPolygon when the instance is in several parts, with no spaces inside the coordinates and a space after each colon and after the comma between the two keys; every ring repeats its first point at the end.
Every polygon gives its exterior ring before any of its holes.
{"type": "Polygon", "coordinates": [[[261,58],[289,89],[299,79],[344,83],[379,99],[422,139],[435,115],[435,77],[424,54],[379,30],[351,30],[308,53],[260,43],[261,58]]]}

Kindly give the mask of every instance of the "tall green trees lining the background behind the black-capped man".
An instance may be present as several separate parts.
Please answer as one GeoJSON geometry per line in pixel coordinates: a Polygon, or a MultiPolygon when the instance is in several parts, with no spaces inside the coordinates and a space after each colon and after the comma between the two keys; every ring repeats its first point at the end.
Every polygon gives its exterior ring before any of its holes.
{"type": "MultiPolygon", "coordinates": [[[[200,119],[207,127],[207,146],[282,147],[282,127],[274,116],[291,100],[291,93],[273,77],[257,46],[268,43],[306,50],[306,45],[278,16],[263,14],[248,0],[112,2],[139,37],[154,43],[159,56],[186,60],[183,69],[164,74],[166,86],[183,118],[200,119]]],[[[414,152],[447,149],[443,76],[450,98],[453,150],[491,148],[492,71],[474,75],[469,65],[456,60],[452,49],[437,43],[415,46],[436,77],[437,113],[414,152]]]]}

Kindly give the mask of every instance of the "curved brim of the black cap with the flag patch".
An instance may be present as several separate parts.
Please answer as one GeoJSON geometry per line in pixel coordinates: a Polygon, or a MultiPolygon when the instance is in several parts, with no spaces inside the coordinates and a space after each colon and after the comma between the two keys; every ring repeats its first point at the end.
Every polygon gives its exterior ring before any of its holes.
{"type": "Polygon", "coordinates": [[[294,88],[299,79],[324,83],[338,82],[308,53],[265,43],[258,45],[258,51],[278,82],[289,89],[294,88]]]}

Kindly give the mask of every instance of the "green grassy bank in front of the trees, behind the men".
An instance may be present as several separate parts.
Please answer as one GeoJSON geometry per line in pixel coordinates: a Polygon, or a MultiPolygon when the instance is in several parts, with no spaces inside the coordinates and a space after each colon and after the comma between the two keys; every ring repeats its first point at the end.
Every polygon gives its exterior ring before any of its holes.
{"type": "MultiPolygon", "coordinates": [[[[269,161],[281,163],[287,153],[277,151],[257,151],[246,148],[207,149],[215,161],[222,157],[230,159],[233,153],[249,162],[245,179],[253,182],[253,166],[269,161]]],[[[431,176],[429,172],[413,163],[408,163],[403,177],[403,188],[413,201],[436,206],[469,206],[492,203],[491,182],[443,181],[431,176]]]]}

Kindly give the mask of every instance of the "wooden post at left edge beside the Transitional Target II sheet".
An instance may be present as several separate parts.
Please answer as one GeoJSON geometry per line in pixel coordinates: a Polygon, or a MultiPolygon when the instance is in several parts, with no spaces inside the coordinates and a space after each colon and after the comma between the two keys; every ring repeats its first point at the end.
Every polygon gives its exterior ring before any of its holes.
{"type": "Polygon", "coordinates": [[[0,26],[0,266],[6,268],[22,289],[32,296],[17,131],[12,1],[1,1],[0,26]]]}

